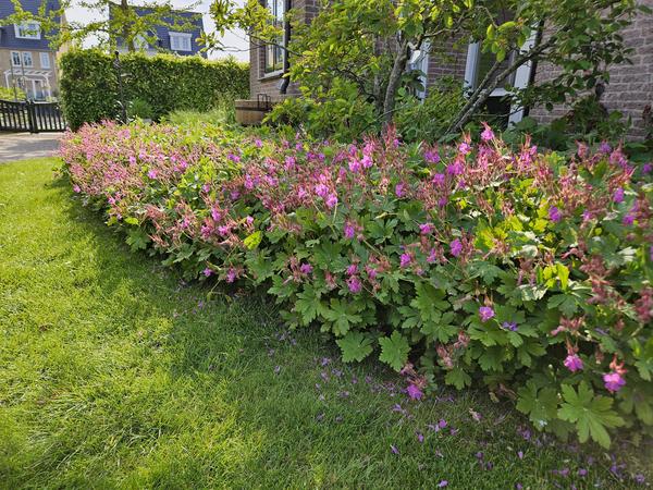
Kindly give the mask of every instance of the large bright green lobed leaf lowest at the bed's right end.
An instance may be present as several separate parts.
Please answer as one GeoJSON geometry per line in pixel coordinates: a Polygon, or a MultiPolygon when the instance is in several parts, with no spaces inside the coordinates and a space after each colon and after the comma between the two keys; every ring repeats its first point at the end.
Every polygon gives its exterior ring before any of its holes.
{"type": "Polygon", "coordinates": [[[611,409],[613,400],[607,396],[594,396],[594,391],[584,381],[579,384],[578,392],[569,384],[563,384],[563,399],[565,403],[558,409],[558,417],[576,424],[580,442],[592,438],[607,449],[611,439],[606,429],[626,424],[611,409]]]}

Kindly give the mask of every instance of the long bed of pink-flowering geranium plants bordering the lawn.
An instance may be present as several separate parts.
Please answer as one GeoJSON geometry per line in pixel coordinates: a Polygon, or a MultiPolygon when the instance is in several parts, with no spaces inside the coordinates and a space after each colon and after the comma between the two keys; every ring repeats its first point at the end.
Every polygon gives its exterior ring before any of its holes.
{"type": "Polygon", "coordinates": [[[264,285],[288,324],[332,333],[346,362],[379,353],[416,395],[483,383],[560,437],[652,432],[651,164],[619,148],[567,161],[488,127],[433,147],[108,124],[62,155],[133,248],[264,285]]]}

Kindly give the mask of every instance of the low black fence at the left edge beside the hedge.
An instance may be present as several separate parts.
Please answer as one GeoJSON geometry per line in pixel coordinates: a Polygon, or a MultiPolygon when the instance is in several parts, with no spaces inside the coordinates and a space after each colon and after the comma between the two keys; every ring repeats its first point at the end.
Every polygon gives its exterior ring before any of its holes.
{"type": "Polygon", "coordinates": [[[65,128],[58,102],[0,100],[0,131],[57,133],[65,128]]]}

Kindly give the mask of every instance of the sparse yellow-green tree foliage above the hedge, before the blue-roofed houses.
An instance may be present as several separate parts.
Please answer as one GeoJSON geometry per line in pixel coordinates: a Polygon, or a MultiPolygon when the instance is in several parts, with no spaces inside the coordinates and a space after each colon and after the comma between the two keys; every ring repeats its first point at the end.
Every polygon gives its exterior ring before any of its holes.
{"type": "Polygon", "coordinates": [[[177,32],[188,32],[195,28],[190,20],[183,14],[195,8],[193,2],[185,9],[175,9],[171,0],[138,1],[133,0],[61,0],[59,8],[48,8],[42,0],[38,11],[29,12],[23,9],[21,0],[11,0],[15,13],[4,20],[11,24],[24,21],[37,21],[41,32],[50,37],[54,47],[65,44],[81,45],[89,37],[97,38],[102,47],[114,49],[119,39],[128,51],[143,48],[139,40],[150,46],[157,46],[155,29],[165,26],[177,32]],[[67,21],[62,23],[65,10],[73,3],[99,14],[102,19],[89,23],[67,21]],[[110,14],[111,12],[111,14],[110,14]]]}

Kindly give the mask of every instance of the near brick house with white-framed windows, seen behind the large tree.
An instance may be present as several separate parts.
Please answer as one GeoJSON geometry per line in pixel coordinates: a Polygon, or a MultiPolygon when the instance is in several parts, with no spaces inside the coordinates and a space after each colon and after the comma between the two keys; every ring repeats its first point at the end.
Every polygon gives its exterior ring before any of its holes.
{"type": "MultiPolygon", "coordinates": [[[[261,0],[280,20],[289,8],[296,9],[300,20],[310,22],[319,11],[319,0],[261,0]]],[[[640,0],[641,4],[653,8],[653,0],[640,0]]],[[[611,81],[606,85],[602,102],[608,110],[618,110],[625,118],[630,118],[632,127],[629,137],[641,139],[646,133],[646,107],[653,105],[653,15],[640,14],[636,21],[624,32],[626,44],[633,48],[631,54],[632,64],[615,65],[611,69],[611,81]]],[[[421,70],[426,73],[424,86],[428,93],[432,85],[442,76],[454,76],[460,79],[465,86],[473,87],[478,79],[482,78],[483,71],[489,69],[491,60],[481,52],[478,44],[470,44],[467,49],[454,48],[454,44],[440,48],[447,54],[447,61],[442,57],[429,56],[427,50],[412,57],[410,68],[421,70]]],[[[249,60],[249,86],[254,99],[259,94],[268,95],[272,101],[279,101],[284,97],[297,96],[298,90],[294,84],[283,83],[283,49],[261,45],[256,40],[250,41],[249,60]],[[285,94],[283,94],[285,91],[285,94]]],[[[555,77],[555,70],[551,66],[538,66],[535,73],[531,73],[531,66],[521,66],[512,76],[509,83],[515,87],[525,87],[530,81],[544,82],[555,77]]],[[[509,108],[502,106],[503,88],[497,88],[489,101],[489,107],[497,111],[509,108]]],[[[517,122],[525,115],[530,115],[540,122],[551,122],[555,118],[564,115],[568,107],[557,106],[552,112],[542,107],[526,110],[513,110],[509,122],[517,122]]],[[[650,111],[650,109],[649,109],[650,111]]]]}

